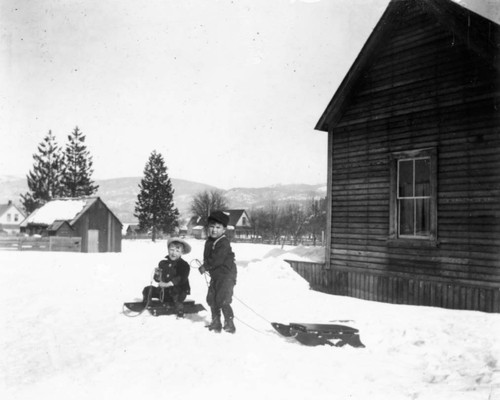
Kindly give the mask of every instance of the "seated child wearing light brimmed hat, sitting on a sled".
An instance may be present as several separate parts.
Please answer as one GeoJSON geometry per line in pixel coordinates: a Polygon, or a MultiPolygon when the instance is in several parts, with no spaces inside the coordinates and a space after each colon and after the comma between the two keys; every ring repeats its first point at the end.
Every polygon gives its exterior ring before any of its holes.
{"type": "Polygon", "coordinates": [[[183,302],[191,292],[189,286],[189,264],[181,257],[191,251],[191,246],[181,238],[170,238],[168,255],[158,263],[153,279],[158,286],[146,286],[142,291],[142,302],[155,297],[163,303],[174,303],[178,318],[184,317],[183,302]]]}

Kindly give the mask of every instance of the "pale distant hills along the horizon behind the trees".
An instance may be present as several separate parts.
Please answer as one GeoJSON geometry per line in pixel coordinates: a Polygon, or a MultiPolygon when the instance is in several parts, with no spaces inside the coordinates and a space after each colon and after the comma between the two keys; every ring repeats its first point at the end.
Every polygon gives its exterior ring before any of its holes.
{"type": "MultiPolygon", "coordinates": [[[[262,188],[233,188],[218,189],[215,186],[183,179],[172,179],[174,187],[174,202],[183,219],[189,217],[189,208],[193,196],[204,190],[221,190],[229,201],[229,206],[235,209],[263,207],[270,202],[306,202],[312,198],[326,195],[325,185],[275,185],[262,188]]],[[[103,199],[108,207],[123,223],[134,223],[135,202],[139,193],[141,177],[114,178],[96,180],[99,185],[97,195],[103,199]]],[[[0,204],[12,200],[20,205],[20,194],[26,193],[28,186],[26,178],[0,176],[0,204]]]]}

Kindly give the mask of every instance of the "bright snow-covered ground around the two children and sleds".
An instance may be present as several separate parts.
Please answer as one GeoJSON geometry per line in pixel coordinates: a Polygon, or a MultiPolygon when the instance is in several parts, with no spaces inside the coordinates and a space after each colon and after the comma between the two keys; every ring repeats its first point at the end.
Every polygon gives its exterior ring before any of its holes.
{"type": "MultiPolygon", "coordinates": [[[[185,259],[201,258],[203,242],[190,242],[185,259]]],[[[124,241],[119,254],[0,252],[0,398],[500,399],[500,315],[325,295],[283,261],[315,249],[233,250],[234,335],[204,328],[207,312],[122,314],[164,241],[124,241]],[[366,348],[302,346],[268,323],[337,320],[366,348]]],[[[193,269],[190,281],[204,304],[204,277],[193,269]]]]}

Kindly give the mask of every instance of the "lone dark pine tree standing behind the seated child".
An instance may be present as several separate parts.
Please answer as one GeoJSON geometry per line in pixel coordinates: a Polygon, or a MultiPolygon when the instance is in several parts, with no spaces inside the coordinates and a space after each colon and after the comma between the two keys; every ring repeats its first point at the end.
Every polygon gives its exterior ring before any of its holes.
{"type": "Polygon", "coordinates": [[[172,182],[162,155],[156,151],[151,153],[146,163],[139,189],[134,216],[139,219],[142,232],[152,230],[154,242],[158,233],[171,233],[179,226],[172,182]]]}

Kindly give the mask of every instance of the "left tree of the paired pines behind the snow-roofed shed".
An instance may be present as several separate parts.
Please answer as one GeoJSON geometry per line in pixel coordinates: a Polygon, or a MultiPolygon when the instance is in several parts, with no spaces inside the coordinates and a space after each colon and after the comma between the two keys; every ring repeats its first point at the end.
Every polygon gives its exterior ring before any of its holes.
{"type": "Polygon", "coordinates": [[[21,195],[21,203],[27,213],[33,212],[54,197],[64,194],[62,171],[64,160],[61,147],[49,131],[38,145],[38,153],[33,154],[35,163],[26,176],[29,191],[21,195]]]}

